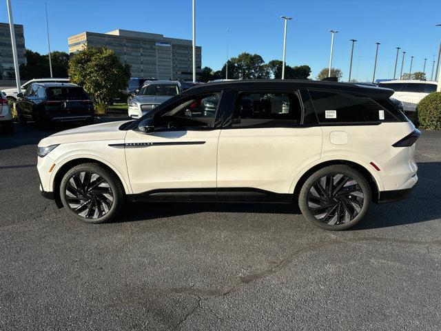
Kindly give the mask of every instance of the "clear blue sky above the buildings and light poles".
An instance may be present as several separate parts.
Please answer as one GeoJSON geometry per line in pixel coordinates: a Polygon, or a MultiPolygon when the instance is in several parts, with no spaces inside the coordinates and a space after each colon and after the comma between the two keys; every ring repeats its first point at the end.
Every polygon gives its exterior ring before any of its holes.
{"type": "MultiPolygon", "coordinates": [[[[14,22],[24,25],[26,47],[46,53],[43,0],[11,0],[14,22]]],[[[52,50],[68,50],[67,38],[83,32],[117,28],[191,39],[191,0],[47,0],[52,50]]],[[[196,43],[202,46],[203,66],[219,69],[227,57],[240,52],[262,55],[265,61],[281,59],[283,20],[293,17],[287,34],[287,63],[309,65],[316,77],[327,67],[331,29],[338,30],[333,66],[347,78],[350,39],[357,39],[353,78],[372,79],[376,41],[380,42],[376,78],[393,76],[396,49],[407,51],[404,71],[422,70],[424,58],[431,74],[433,54],[441,41],[440,0],[196,0],[196,43]]],[[[6,1],[0,1],[0,21],[7,22],[6,1]]],[[[401,57],[401,54],[400,54],[401,57]]],[[[398,67],[400,67],[400,62],[398,67]]],[[[400,68],[398,68],[399,71],[400,68]]]]}

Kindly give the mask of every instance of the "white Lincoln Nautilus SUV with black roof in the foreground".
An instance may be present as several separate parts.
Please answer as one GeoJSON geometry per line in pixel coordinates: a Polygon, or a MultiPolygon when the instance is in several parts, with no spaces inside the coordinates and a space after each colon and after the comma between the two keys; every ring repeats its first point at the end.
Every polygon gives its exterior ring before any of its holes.
{"type": "Polygon", "coordinates": [[[418,180],[420,132],[392,93],[318,81],[196,86],[136,121],[41,140],[41,192],[89,223],[113,219],[127,199],[298,201],[315,225],[343,230],[418,180]]]}

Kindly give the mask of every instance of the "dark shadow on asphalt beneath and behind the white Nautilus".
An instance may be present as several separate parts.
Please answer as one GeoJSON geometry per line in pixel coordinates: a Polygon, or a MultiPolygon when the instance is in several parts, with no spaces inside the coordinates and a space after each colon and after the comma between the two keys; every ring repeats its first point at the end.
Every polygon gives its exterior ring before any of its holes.
{"type": "MultiPolygon", "coordinates": [[[[409,198],[382,205],[372,203],[365,219],[351,230],[441,219],[441,163],[418,163],[418,179],[409,198]]],[[[296,203],[129,203],[115,222],[147,221],[200,212],[300,214],[296,203]]]]}

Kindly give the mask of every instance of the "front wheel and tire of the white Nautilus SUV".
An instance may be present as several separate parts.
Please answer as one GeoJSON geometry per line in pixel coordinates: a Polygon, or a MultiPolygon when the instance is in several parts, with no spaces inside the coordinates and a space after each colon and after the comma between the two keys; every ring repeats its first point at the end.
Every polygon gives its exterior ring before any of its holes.
{"type": "Polygon", "coordinates": [[[76,165],[66,172],[59,190],[69,214],[85,223],[110,221],[125,203],[124,189],[116,175],[96,163],[76,165]]]}

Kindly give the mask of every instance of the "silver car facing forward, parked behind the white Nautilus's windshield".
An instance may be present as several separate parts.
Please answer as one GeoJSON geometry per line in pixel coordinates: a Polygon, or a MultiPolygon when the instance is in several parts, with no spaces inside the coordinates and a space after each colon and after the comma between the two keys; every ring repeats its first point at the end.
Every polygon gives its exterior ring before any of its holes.
{"type": "Polygon", "coordinates": [[[136,97],[129,102],[129,116],[139,119],[181,92],[181,83],[178,81],[146,81],[136,97]]]}

